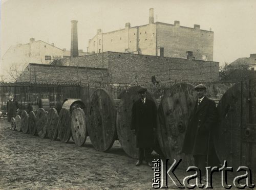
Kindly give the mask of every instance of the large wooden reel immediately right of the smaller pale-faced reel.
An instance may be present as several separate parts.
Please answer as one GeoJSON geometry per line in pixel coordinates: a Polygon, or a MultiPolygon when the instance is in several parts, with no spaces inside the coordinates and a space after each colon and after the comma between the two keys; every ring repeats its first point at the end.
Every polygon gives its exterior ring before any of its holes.
{"type": "Polygon", "coordinates": [[[116,106],[104,89],[95,90],[90,97],[88,133],[94,148],[104,152],[116,140],[116,106]]]}

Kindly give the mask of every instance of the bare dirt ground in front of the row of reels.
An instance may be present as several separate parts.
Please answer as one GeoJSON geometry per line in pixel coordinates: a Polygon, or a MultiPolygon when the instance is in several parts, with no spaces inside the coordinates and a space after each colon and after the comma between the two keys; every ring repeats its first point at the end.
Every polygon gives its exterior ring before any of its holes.
{"type": "MultiPolygon", "coordinates": [[[[136,160],[124,153],[119,141],[102,153],[89,138],[77,147],[72,141],[64,144],[9,128],[7,120],[0,120],[0,189],[152,188],[152,168],[145,163],[136,167],[136,160]]],[[[188,176],[179,169],[175,173],[181,180],[188,176]]],[[[170,180],[168,187],[178,189],[170,180]]],[[[214,177],[214,187],[224,189],[219,176],[214,177]]]]}

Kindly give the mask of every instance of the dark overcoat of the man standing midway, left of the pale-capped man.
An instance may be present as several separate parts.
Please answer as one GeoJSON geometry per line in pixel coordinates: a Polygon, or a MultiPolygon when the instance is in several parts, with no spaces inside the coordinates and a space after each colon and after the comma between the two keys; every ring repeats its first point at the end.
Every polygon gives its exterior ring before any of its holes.
{"type": "Polygon", "coordinates": [[[154,128],[157,126],[157,108],[155,102],[146,98],[145,104],[141,99],[132,107],[131,129],[136,132],[137,148],[154,147],[154,128]]]}

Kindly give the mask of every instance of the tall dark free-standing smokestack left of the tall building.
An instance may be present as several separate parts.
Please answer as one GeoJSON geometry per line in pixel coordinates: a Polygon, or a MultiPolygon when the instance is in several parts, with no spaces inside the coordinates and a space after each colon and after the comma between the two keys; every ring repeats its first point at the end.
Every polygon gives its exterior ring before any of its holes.
{"type": "Polygon", "coordinates": [[[71,57],[78,57],[77,20],[71,20],[71,57]]]}

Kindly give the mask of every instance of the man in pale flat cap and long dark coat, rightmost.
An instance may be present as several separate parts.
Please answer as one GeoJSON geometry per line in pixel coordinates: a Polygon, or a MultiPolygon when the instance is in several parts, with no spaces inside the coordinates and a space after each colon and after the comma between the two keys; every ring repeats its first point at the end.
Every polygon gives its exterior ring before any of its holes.
{"type": "Polygon", "coordinates": [[[215,102],[205,96],[205,85],[199,84],[195,90],[197,101],[193,113],[189,116],[182,151],[194,156],[195,166],[201,170],[204,179],[205,167],[214,151],[210,131],[217,122],[217,110],[215,102]]]}

